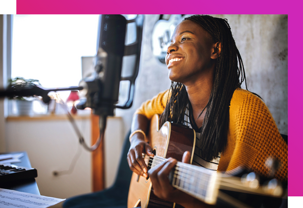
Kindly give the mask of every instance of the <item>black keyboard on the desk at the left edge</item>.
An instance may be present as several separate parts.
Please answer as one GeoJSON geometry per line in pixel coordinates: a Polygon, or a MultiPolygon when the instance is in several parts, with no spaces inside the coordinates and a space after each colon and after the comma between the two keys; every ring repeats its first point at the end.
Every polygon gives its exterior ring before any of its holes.
{"type": "Polygon", "coordinates": [[[30,179],[37,176],[37,170],[34,168],[0,164],[0,183],[30,179]]]}

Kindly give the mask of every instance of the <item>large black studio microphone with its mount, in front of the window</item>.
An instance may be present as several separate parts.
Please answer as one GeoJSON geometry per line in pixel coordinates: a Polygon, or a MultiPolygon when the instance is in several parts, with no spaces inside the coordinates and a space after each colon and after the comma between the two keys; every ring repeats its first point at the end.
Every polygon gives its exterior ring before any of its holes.
{"type": "Polygon", "coordinates": [[[99,19],[97,53],[94,57],[95,70],[92,76],[84,78],[79,86],[85,99],[77,109],[89,107],[95,115],[113,116],[115,108],[127,109],[132,106],[134,83],[138,75],[143,15],[126,20],[122,15],[102,15],[99,19]],[[135,24],[136,41],[127,44],[129,24],[135,24]],[[133,59],[132,61],[129,61],[133,59]],[[121,77],[122,68],[130,73],[121,77]],[[121,80],[130,82],[128,100],[124,106],[117,106],[121,80]]]}

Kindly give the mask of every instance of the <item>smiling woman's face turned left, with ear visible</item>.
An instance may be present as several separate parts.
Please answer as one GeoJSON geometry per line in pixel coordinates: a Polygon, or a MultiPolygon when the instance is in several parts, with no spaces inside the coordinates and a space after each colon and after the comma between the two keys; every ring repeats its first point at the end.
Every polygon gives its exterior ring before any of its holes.
{"type": "Polygon", "coordinates": [[[167,49],[166,64],[169,78],[186,85],[212,74],[217,58],[216,43],[201,26],[185,20],[175,29],[167,49]]]}

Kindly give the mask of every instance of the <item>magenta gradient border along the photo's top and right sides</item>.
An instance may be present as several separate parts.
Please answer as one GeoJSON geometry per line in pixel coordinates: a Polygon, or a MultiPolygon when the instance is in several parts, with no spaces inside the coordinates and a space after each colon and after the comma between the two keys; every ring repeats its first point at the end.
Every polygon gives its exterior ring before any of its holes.
{"type": "MultiPolygon", "coordinates": [[[[298,1],[297,1],[298,2],[298,1]]],[[[97,1],[97,0],[17,0],[17,14],[287,14],[288,15],[288,196],[303,196],[303,171],[299,159],[302,150],[302,97],[300,81],[303,70],[301,4],[296,1],[97,1]],[[135,6],[133,6],[135,5],[135,6]],[[300,61],[301,62],[301,61],[300,61]],[[295,172],[296,171],[296,172],[295,172]],[[295,174],[297,173],[297,174],[295,174]]]]}

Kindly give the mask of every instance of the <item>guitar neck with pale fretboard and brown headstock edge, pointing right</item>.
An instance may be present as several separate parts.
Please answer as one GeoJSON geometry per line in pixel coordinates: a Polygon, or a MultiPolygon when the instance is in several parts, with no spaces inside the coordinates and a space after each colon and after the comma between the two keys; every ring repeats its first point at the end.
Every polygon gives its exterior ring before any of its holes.
{"type": "MultiPolygon", "coordinates": [[[[155,156],[150,167],[154,168],[166,160],[155,156]]],[[[176,167],[170,172],[169,180],[173,187],[209,204],[216,203],[219,189],[275,197],[281,197],[284,192],[280,185],[262,186],[258,180],[243,182],[239,177],[181,162],[177,162],[176,167]]]]}

